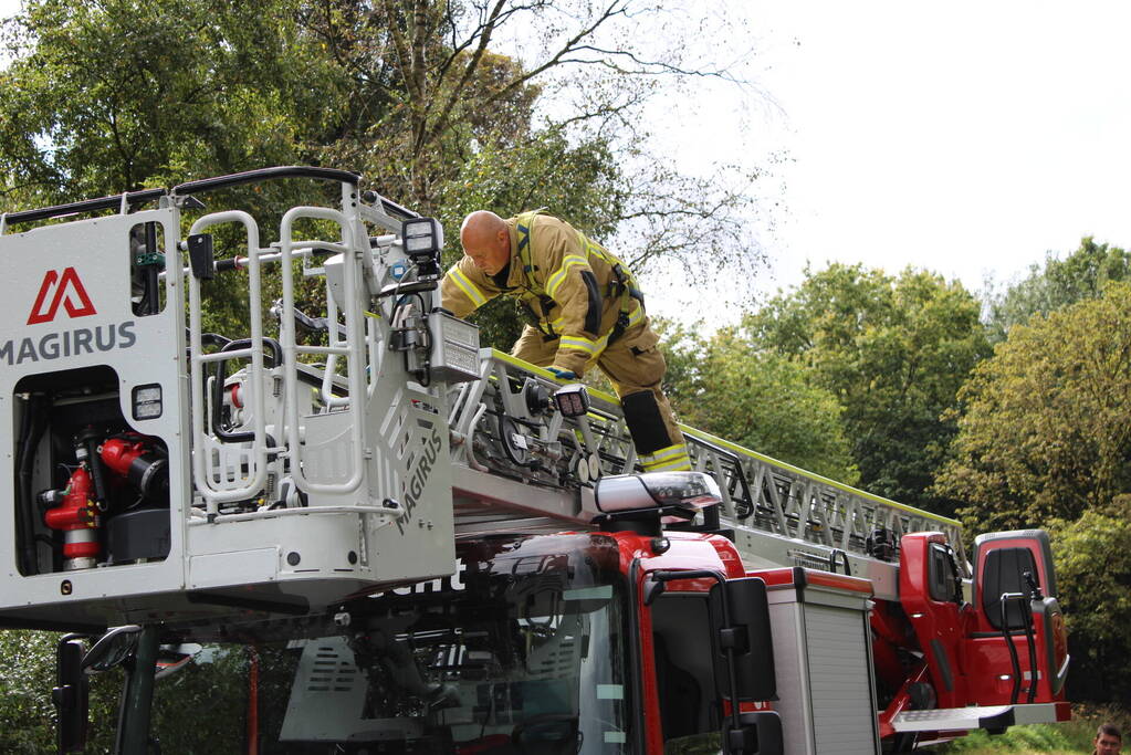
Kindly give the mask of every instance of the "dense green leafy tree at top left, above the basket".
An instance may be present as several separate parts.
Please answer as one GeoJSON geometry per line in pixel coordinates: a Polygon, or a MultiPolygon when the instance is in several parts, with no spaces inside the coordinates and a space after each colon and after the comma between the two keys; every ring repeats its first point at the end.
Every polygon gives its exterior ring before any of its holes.
{"type": "Polygon", "coordinates": [[[74,201],[301,158],[338,98],[286,0],[33,0],[0,72],[12,199],[74,201]],[[20,190],[17,190],[20,189],[20,190]]]}

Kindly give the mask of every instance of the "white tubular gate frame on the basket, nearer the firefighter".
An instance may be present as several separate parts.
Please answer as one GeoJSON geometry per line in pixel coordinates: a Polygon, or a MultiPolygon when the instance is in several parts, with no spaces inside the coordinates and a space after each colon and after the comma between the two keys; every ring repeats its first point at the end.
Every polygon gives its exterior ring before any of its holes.
{"type": "MultiPolygon", "coordinates": [[[[355,306],[357,302],[357,252],[352,243],[353,225],[339,210],[327,207],[292,207],[283,215],[279,225],[279,251],[282,252],[283,274],[283,309],[279,324],[279,341],[284,355],[284,382],[286,385],[286,435],[291,459],[291,475],[304,493],[352,493],[357,489],[364,477],[364,418],[365,418],[365,396],[366,385],[364,382],[364,356],[368,349],[361,342],[361,312],[355,306]],[[345,298],[349,303],[345,311],[346,319],[346,347],[323,348],[313,346],[299,346],[295,342],[294,327],[294,274],[292,270],[292,250],[295,245],[292,238],[294,222],[299,218],[311,218],[319,220],[331,220],[342,228],[346,249],[354,250],[343,257],[343,284],[345,298]],[[299,356],[303,354],[334,354],[345,352],[346,370],[348,372],[347,382],[349,387],[349,405],[347,411],[351,418],[349,437],[352,450],[349,463],[353,471],[344,483],[314,483],[307,477],[307,471],[302,465],[302,443],[300,425],[302,417],[299,413],[299,356]]],[[[331,323],[333,326],[333,323],[331,323]]]]}

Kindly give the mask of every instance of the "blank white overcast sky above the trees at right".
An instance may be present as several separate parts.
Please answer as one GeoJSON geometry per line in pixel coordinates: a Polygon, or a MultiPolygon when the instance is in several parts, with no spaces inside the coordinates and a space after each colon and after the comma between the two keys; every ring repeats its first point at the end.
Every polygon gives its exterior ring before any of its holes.
{"type": "MultiPolygon", "coordinates": [[[[754,38],[718,44],[753,47],[749,73],[776,106],[705,85],[663,131],[692,167],[786,157],[758,189],[765,290],[834,259],[977,289],[1083,235],[1131,244],[1131,3],[735,7],[754,38]]],[[[17,8],[0,0],[0,16],[17,8]]],[[[663,313],[687,306],[671,302],[663,313]]]]}

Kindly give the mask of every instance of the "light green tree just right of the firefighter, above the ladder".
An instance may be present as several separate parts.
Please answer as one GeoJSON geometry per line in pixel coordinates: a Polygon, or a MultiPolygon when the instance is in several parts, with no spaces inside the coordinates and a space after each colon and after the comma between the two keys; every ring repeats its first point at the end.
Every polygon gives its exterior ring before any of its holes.
{"type": "Polygon", "coordinates": [[[860,472],[836,398],[777,354],[735,330],[702,339],[666,328],[664,381],[682,422],[809,471],[855,485],[860,472]]]}

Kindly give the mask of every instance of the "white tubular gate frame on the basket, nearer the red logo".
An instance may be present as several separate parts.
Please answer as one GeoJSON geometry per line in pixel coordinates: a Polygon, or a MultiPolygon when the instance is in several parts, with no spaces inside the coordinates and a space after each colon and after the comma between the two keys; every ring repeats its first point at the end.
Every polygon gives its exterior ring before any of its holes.
{"type": "MultiPolygon", "coordinates": [[[[251,379],[254,385],[261,384],[264,374],[264,329],[262,329],[262,284],[260,279],[259,254],[259,226],[248,212],[241,210],[230,210],[225,212],[213,212],[206,215],[192,224],[190,235],[201,233],[206,228],[223,223],[239,223],[243,225],[248,236],[248,274],[249,274],[249,314],[251,326],[251,379]]],[[[204,354],[201,344],[201,303],[200,303],[200,279],[189,275],[189,365],[192,385],[192,440],[197,451],[192,454],[192,476],[197,489],[205,497],[206,507],[209,514],[217,512],[221,502],[240,501],[248,498],[262,489],[267,481],[267,443],[266,427],[264,425],[264,397],[262,391],[253,391],[253,429],[254,448],[251,454],[243,453],[253,469],[250,470],[250,479],[244,478],[243,485],[239,487],[224,486],[217,488],[214,485],[213,476],[208,472],[208,465],[211,463],[213,454],[210,450],[217,445],[223,449],[222,442],[214,437],[215,428],[209,428],[205,433],[204,410],[205,401],[201,401],[204,390],[205,364],[216,361],[214,355],[204,354]]],[[[230,358],[231,354],[225,358],[230,358]]],[[[219,454],[219,465],[226,466],[224,453],[219,454]]],[[[218,485],[218,481],[217,481],[218,485]]]]}

